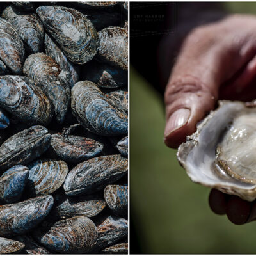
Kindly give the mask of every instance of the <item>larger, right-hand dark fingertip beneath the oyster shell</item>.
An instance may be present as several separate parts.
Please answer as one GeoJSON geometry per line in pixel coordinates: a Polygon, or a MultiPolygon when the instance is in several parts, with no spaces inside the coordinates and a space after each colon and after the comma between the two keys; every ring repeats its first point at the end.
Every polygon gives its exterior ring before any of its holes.
{"type": "Polygon", "coordinates": [[[232,223],[242,225],[249,219],[251,210],[250,202],[238,196],[230,196],[227,203],[227,217],[232,223]]]}

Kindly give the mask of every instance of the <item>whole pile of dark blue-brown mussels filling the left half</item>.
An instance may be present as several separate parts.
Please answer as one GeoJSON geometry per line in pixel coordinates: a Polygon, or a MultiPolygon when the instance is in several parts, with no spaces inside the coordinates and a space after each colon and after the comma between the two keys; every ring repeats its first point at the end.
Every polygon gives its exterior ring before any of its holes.
{"type": "Polygon", "coordinates": [[[127,253],[127,3],[0,11],[0,254],[127,253]]]}

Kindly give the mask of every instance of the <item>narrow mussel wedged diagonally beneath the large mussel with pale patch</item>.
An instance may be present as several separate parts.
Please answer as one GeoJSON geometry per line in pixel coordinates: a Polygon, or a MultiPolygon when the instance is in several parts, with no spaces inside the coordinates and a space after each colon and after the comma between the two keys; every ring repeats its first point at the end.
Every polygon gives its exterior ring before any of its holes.
{"type": "Polygon", "coordinates": [[[45,53],[51,56],[61,67],[62,70],[67,70],[70,73],[69,85],[70,88],[76,84],[79,79],[80,67],[67,59],[61,49],[54,43],[47,33],[44,38],[45,53]]]}

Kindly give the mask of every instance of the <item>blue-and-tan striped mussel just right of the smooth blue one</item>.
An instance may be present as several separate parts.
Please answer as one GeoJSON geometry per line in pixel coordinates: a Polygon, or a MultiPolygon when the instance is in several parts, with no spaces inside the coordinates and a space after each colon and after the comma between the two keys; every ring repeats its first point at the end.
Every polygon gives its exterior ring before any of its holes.
{"type": "Polygon", "coordinates": [[[64,183],[68,166],[64,161],[38,159],[28,164],[29,177],[26,189],[30,195],[49,195],[64,183]]]}

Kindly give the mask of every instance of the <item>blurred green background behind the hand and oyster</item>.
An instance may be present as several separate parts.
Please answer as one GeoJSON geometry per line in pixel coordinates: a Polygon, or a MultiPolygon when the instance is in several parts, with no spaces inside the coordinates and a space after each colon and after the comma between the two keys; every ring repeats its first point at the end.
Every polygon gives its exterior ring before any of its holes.
{"type": "MultiPolygon", "coordinates": [[[[256,3],[225,3],[233,13],[256,13],[256,3]]],[[[211,212],[209,188],[194,184],[177,150],[163,143],[162,99],[131,67],[131,214],[141,253],[256,253],[256,221],[237,226],[211,212]]]]}

